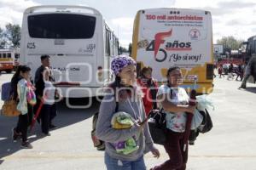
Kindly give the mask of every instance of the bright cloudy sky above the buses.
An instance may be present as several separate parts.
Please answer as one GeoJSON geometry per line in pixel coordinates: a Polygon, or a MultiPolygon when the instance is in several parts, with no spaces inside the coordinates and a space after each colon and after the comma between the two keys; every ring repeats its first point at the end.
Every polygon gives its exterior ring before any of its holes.
{"type": "Polygon", "coordinates": [[[127,47],[132,39],[133,20],[143,8],[195,8],[212,13],[213,43],[221,37],[247,40],[256,35],[255,0],[0,0],[0,26],[21,26],[23,11],[36,5],[82,5],[98,9],[127,47]]]}

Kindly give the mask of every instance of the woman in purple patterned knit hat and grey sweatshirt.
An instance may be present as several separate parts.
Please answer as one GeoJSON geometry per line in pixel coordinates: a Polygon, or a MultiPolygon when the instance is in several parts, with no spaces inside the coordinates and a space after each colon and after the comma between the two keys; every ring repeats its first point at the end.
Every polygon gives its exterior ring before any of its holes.
{"type": "Polygon", "coordinates": [[[96,137],[105,141],[106,167],[108,170],[146,170],[143,155],[151,151],[159,157],[160,152],[154,147],[148,123],[145,122],[142,92],[136,85],[136,62],[129,56],[120,55],[111,62],[111,69],[116,76],[115,81],[102,100],[96,124],[96,137]],[[117,111],[132,117],[134,121],[130,128],[112,127],[112,118],[117,111]],[[137,147],[129,154],[116,149],[120,141],[127,139],[134,139],[133,146],[137,147]]]}

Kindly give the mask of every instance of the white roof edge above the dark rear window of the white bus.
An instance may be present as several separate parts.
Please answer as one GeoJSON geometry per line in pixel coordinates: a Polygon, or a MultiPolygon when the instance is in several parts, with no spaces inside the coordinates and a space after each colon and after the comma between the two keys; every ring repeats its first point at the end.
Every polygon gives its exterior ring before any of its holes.
{"type": "Polygon", "coordinates": [[[64,13],[80,13],[80,14],[98,14],[102,15],[95,8],[75,6],[75,5],[42,5],[26,8],[24,14],[42,13],[42,12],[64,12],[64,13]]]}

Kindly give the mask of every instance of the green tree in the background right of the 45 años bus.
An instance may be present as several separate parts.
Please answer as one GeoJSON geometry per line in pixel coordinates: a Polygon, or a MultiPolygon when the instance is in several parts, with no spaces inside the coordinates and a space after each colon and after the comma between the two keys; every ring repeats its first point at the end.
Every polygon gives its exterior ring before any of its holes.
{"type": "Polygon", "coordinates": [[[241,42],[244,42],[243,40],[236,40],[235,37],[229,36],[229,37],[222,37],[221,39],[217,40],[218,44],[224,45],[225,51],[230,51],[231,49],[240,48],[241,42]]]}

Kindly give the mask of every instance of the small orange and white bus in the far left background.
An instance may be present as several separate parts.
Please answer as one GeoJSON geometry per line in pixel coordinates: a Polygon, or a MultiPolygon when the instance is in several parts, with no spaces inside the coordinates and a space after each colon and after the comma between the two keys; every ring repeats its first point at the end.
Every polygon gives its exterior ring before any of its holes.
{"type": "Polygon", "coordinates": [[[20,48],[0,49],[0,71],[11,73],[19,65],[20,48]]]}

